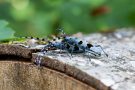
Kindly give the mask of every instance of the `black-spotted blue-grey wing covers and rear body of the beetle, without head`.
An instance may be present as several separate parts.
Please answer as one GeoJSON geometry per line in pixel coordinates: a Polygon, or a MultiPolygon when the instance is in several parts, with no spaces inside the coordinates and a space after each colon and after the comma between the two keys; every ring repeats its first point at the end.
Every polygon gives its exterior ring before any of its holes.
{"type": "Polygon", "coordinates": [[[100,45],[92,45],[87,41],[81,40],[77,37],[67,36],[65,35],[65,32],[62,29],[59,29],[59,31],[62,33],[61,36],[63,37],[61,44],[64,45],[64,48],[71,54],[90,53],[95,57],[100,57],[101,52],[103,52],[108,57],[108,54],[105,53],[105,51],[100,45]]]}

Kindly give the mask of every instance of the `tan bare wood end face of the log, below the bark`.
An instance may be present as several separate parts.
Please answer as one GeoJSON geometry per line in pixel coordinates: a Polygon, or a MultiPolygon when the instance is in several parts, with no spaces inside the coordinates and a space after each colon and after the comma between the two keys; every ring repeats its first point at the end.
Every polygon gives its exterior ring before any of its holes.
{"type": "Polygon", "coordinates": [[[95,90],[64,73],[31,63],[1,61],[0,68],[0,90],[95,90]]]}

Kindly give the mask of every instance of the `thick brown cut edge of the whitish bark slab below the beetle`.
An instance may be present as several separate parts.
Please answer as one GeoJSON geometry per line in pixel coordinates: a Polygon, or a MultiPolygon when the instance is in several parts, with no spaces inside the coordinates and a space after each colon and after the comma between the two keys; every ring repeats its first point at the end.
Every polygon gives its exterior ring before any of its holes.
{"type": "MultiPolygon", "coordinates": [[[[35,62],[35,60],[39,56],[37,54],[33,54],[32,57],[33,57],[32,61],[35,62]]],[[[67,59],[69,57],[63,57],[63,60],[64,60],[64,58],[67,59]]],[[[41,65],[49,67],[53,70],[57,70],[59,72],[65,73],[66,75],[72,76],[75,79],[80,80],[98,90],[108,90],[109,89],[107,86],[105,86],[102,82],[100,82],[93,76],[86,74],[85,72],[81,71],[80,69],[76,68],[75,66],[71,66],[69,64],[63,63],[57,59],[43,57],[41,60],[41,65]]]]}

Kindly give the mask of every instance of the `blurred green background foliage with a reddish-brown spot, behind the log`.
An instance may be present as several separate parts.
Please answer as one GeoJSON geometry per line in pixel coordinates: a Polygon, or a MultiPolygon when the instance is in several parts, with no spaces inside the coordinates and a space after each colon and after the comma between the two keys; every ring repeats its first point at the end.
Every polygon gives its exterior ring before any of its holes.
{"type": "Polygon", "coordinates": [[[70,34],[134,27],[135,0],[0,0],[0,19],[16,36],[43,37],[59,27],[70,34]]]}

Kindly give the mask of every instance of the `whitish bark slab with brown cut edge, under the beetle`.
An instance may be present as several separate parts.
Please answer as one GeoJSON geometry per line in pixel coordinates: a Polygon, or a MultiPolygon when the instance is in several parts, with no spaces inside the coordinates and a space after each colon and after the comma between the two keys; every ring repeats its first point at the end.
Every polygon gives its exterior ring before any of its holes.
{"type": "Polygon", "coordinates": [[[88,62],[82,54],[69,57],[67,53],[53,51],[43,56],[42,65],[64,72],[99,90],[135,90],[135,79],[132,78],[135,75],[135,31],[123,29],[82,38],[103,46],[109,57],[103,54],[101,58],[91,58],[88,62]]]}

